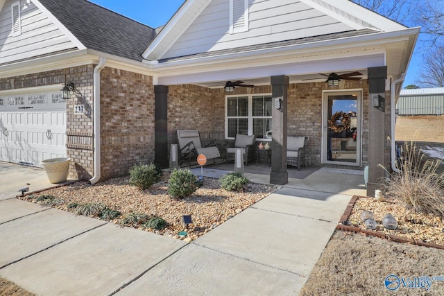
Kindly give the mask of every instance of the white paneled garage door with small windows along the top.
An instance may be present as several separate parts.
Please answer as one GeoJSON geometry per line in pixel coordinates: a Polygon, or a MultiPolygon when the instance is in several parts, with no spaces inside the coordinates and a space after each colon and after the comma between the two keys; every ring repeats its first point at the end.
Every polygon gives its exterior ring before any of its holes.
{"type": "Polygon", "coordinates": [[[66,157],[66,102],[60,85],[0,92],[0,160],[42,167],[66,157]]]}

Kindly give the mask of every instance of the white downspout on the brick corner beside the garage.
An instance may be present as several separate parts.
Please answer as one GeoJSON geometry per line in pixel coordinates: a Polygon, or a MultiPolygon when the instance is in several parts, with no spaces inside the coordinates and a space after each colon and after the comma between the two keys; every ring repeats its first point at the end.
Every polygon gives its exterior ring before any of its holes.
{"type": "Polygon", "coordinates": [[[106,58],[100,57],[99,64],[94,68],[93,76],[93,125],[94,125],[94,176],[91,184],[99,182],[101,177],[101,142],[100,142],[100,71],[105,67],[106,58]]]}

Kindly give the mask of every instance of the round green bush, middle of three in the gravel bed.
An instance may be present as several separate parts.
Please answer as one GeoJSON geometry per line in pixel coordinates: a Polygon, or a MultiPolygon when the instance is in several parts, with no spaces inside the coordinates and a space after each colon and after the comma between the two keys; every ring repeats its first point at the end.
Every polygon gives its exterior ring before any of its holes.
{"type": "Polygon", "coordinates": [[[197,177],[189,170],[174,170],[169,177],[168,194],[173,198],[186,198],[196,191],[197,177]]]}

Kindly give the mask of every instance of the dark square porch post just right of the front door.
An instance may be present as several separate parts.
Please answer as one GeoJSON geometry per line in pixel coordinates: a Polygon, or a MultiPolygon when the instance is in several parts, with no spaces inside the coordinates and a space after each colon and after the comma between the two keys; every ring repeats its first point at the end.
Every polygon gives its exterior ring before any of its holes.
{"type": "Polygon", "coordinates": [[[378,182],[384,177],[384,169],[378,164],[385,164],[386,114],[373,107],[372,98],[379,95],[385,100],[386,77],[386,66],[368,68],[368,196],[375,195],[375,190],[380,189],[378,182]]]}

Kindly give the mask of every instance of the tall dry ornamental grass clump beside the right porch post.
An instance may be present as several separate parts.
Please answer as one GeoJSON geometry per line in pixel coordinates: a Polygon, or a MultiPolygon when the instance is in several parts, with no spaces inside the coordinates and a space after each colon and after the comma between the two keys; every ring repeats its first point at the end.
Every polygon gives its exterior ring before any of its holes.
{"type": "Polygon", "coordinates": [[[415,143],[406,142],[400,159],[400,173],[384,178],[386,194],[407,209],[444,217],[444,173],[437,173],[441,159],[425,159],[415,143]]]}

